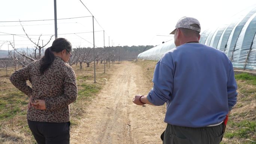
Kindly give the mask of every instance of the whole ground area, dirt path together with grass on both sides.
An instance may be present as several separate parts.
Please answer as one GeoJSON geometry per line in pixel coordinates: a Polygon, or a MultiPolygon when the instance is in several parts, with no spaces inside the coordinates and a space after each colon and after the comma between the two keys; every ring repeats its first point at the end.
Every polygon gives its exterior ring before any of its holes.
{"type": "MultiPolygon", "coordinates": [[[[78,98],[70,105],[71,143],[161,143],[165,106],[132,104],[135,94],[147,94],[152,87],[156,61],[97,65],[97,83],[91,67],[73,65],[77,75],[78,98]],[[145,128],[146,126],[146,128],[145,128]]],[[[0,69],[0,143],[35,143],[26,122],[28,98],[9,81],[13,68],[0,69]]],[[[238,100],[229,117],[222,144],[256,142],[256,76],[235,74],[238,100]]]]}

